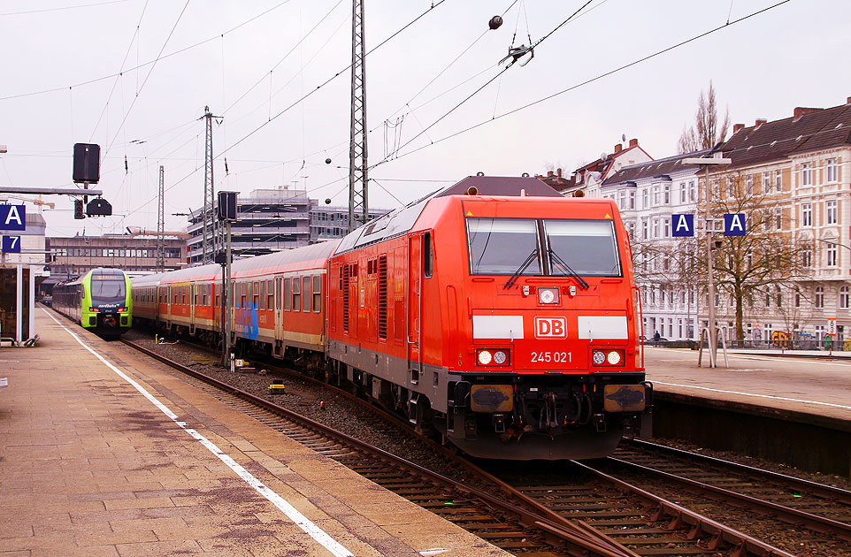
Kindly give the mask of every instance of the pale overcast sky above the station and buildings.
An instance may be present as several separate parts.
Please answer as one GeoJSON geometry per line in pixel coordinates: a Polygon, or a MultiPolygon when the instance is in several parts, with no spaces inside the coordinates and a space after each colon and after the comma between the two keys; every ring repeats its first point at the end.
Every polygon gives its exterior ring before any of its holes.
{"type": "MultiPolygon", "coordinates": [[[[364,0],[367,49],[428,11],[367,57],[370,205],[476,172],[570,172],[623,135],[671,156],[709,80],[733,123],[845,103],[851,2],[791,0],[733,23],[778,1],[593,0],[556,29],[586,0],[364,0]],[[502,72],[512,37],[546,35],[502,72]]],[[[350,20],[350,0],[0,0],[0,186],[72,187],[73,144],[98,143],[114,216],[75,221],[54,196],[48,235],[156,230],[160,164],[165,227],[183,228],[172,213],[203,202],[209,105],[224,117],[217,191],[306,187],[344,205],[350,20]]]]}

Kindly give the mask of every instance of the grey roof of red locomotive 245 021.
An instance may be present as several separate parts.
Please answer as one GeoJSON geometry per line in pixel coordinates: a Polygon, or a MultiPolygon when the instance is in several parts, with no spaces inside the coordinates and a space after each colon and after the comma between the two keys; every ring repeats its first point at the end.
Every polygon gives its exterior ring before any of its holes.
{"type": "Polygon", "coordinates": [[[478,190],[477,195],[519,196],[523,194],[529,197],[563,197],[540,179],[528,176],[468,176],[452,186],[443,187],[422,199],[410,202],[401,209],[390,211],[387,215],[361,226],[342,239],[340,247],[337,248],[335,253],[343,253],[349,251],[349,249],[359,248],[366,244],[406,233],[414,227],[419,216],[426,209],[426,204],[433,198],[466,195],[471,187],[478,190]]]}

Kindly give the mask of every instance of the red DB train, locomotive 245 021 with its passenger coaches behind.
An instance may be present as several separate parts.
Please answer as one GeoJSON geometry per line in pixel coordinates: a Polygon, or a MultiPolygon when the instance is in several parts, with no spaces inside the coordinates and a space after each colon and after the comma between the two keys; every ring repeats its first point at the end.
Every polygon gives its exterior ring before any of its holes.
{"type": "MultiPolygon", "coordinates": [[[[649,425],[640,296],[607,199],[476,176],[342,240],[234,262],[237,346],[348,381],[473,456],[582,459],[649,425]]],[[[215,341],[219,266],[134,279],[136,321],[215,341]]]]}

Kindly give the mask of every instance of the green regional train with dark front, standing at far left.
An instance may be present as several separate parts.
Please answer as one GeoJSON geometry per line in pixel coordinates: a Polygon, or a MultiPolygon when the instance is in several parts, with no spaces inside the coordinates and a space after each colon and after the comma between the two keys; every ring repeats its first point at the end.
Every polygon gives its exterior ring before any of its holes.
{"type": "Polygon", "coordinates": [[[52,307],[90,331],[118,336],[133,324],[130,279],[120,269],[93,269],[54,286],[52,307]]]}

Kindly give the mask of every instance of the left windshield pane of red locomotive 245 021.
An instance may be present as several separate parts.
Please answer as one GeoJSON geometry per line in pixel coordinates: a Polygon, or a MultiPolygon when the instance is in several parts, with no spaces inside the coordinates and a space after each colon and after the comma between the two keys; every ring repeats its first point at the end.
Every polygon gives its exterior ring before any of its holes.
{"type": "MultiPolygon", "coordinates": [[[[533,219],[468,218],[467,243],[473,275],[510,275],[538,250],[538,227],[533,219]]],[[[519,274],[540,275],[540,259],[519,274]]]]}

